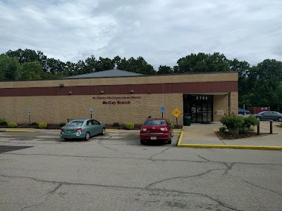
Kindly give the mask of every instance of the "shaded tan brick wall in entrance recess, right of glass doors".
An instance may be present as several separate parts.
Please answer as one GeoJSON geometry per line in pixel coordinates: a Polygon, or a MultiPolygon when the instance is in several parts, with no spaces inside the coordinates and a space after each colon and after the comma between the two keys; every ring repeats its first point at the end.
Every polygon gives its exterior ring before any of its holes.
{"type": "Polygon", "coordinates": [[[223,113],[228,114],[228,94],[214,96],[214,122],[219,122],[222,115],[216,114],[216,111],[222,110],[223,113]]]}

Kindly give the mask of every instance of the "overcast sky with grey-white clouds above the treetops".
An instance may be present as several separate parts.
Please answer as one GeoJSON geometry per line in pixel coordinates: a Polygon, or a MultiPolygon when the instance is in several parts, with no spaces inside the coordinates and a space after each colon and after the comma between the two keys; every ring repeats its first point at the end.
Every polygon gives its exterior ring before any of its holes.
{"type": "Polygon", "coordinates": [[[0,53],[42,51],[78,62],[142,56],[176,65],[223,53],[256,65],[282,60],[282,0],[0,0],[0,53]]]}

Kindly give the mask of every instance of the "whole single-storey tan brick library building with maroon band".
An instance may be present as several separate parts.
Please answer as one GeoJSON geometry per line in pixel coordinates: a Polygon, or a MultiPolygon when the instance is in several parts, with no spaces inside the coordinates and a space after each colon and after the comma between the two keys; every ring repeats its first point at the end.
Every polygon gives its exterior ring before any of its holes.
{"type": "Polygon", "coordinates": [[[178,124],[216,122],[238,113],[238,72],[140,75],[106,70],[64,79],[0,82],[0,118],[7,122],[56,123],[92,117],[104,124],[142,124],[162,115],[178,124]],[[161,113],[161,106],[164,113],[161,113]],[[28,111],[30,111],[30,116],[28,111]]]}

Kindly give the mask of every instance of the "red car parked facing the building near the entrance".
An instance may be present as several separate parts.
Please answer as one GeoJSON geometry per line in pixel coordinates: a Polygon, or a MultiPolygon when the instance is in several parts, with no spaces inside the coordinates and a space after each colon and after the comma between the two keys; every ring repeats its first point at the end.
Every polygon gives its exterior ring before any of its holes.
{"type": "Polygon", "coordinates": [[[140,129],[140,142],[164,141],[171,144],[173,128],[166,119],[148,119],[140,129]]]}

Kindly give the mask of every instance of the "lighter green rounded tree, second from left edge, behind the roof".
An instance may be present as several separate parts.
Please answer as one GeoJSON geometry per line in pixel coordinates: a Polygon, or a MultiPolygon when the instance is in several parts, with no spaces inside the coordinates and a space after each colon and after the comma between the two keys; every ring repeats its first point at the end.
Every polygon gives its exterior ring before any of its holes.
{"type": "Polygon", "coordinates": [[[44,71],[42,65],[37,62],[23,63],[18,68],[18,72],[16,75],[17,80],[35,80],[42,79],[44,75],[44,71]]]}

